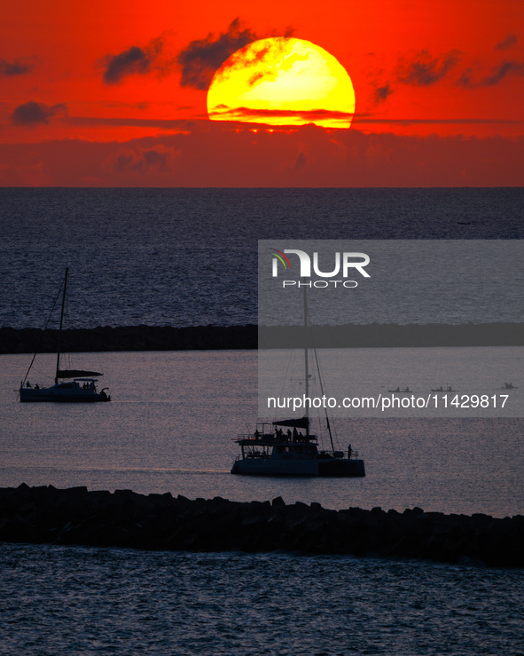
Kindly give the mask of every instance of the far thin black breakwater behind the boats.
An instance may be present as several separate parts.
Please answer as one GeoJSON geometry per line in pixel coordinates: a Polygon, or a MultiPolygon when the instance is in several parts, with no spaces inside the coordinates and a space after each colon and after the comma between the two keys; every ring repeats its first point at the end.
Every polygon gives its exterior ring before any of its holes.
{"type": "MultiPolygon", "coordinates": [[[[521,346],[524,324],[421,326],[111,326],[62,331],[62,352],[179,351],[259,348],[374,348],[395,346],[521,346]]],[[[56,352],[59,332],[0,328],[0,354],[56,352]]]]}

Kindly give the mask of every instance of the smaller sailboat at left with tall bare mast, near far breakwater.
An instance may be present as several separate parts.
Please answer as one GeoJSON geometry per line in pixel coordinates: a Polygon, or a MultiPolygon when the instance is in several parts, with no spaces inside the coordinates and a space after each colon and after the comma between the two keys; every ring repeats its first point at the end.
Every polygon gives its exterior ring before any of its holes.
{"type": "MultiPolygon", "coordinates": [[[[27,380],[27,376],[35,362],[36,353],[31,360],[31,364],[27,369],[27,374],[20,383],[20,401],[57,401],[66,403],[93,403],[97,401],[110,401],[111,397],[106,393],[105,387],[101,391],[97,389],[98,377],[102,375],[98,371],[87,371],[85,369],[60,369],[60,346],[62,328],[64,324],[64,309],[66,306],[66,289],[67,289],[67,276],[69,269],[66,268],[66,275],[64,277],[63,293],[62,293],[62,308],[60,312],[60,328],[59,328],[59,342],[57,348],[57,366],[55,370],[55,383],[51,387],[40,387],[40,385],[31,385],[27,380]]],[[[58,296],[57,296],[58,298],[58,296]]],[[[55,301],[56,304],[56,301],[55,301]]],[[[54,305],[53,305],[54,309],[54,305]]],[[[51,311],[52,313],[52,311],[51,311]]]]}

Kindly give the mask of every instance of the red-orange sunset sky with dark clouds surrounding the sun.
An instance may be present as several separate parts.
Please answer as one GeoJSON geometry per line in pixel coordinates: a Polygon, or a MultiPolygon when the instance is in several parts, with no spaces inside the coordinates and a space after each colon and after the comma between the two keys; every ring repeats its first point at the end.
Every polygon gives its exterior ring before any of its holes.
{"type": "Polygon", "coordinates": [[[2,186],[521,186],[522,0],[19,0],[0,20],[2,186]],[[239,48],[345,67],[349,129],[207,117],[239,48]]]}

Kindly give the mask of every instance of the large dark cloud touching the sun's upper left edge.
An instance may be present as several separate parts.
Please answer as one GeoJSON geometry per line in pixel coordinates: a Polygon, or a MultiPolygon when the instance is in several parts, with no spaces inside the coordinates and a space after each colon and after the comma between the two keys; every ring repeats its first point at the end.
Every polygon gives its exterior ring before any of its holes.
{"type": "MultiPolygon", "coordinates": [[[[290,28],[287,29],[287,32],[290,28]]],[[[215,38],[208,34],[205,39],[192,41],[178,55],[182,67],[182,86],[207,90],[215,71],[223,65],[233,52],[261,38],[253,30],[244,28],[239,20],[233,20],[227,30],[215,38]]]]}

